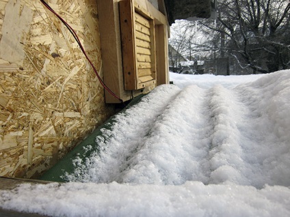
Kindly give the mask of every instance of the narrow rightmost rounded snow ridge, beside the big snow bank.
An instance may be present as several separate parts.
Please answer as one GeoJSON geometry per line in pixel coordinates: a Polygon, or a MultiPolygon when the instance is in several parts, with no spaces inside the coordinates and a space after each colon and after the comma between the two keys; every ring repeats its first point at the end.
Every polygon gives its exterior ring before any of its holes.
{"type": "Polygon", "coordinates": [[[209,150],[210,175],[207,184],[235,182],[248,185],[243,175],[246,169],[241,156],[240,134],[238,124],[242,120],[243,109],[233,89],[216,85],[209,93],[209,113],[213,132],[209,150]]]}

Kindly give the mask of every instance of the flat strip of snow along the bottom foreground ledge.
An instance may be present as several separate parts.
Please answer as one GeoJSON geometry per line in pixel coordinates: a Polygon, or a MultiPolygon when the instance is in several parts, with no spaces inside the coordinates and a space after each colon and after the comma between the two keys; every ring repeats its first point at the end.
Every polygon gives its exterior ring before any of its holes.
{"type": "Polygon", "coordinates": [[[202,182],[181,186],[112,182],[23,184],[2,191],[0,200],[5,208],[50,216],[289,216],[289,194],[283,186],[257,190],[202,182]]]}

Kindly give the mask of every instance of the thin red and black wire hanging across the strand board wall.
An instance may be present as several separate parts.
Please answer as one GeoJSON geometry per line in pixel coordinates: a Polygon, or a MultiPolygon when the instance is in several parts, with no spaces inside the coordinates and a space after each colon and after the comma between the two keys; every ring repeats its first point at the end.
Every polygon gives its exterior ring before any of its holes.
{"type": "Polygon", "coordinates": [[[111,91],[111,89],[109,89],[109,87],[107,87],[107,85],[105,85],[105,83],[103,82],[102,78],[100,77],[100,75],[98,74],[98,71],[96,70],[96,68],[94,67],[94,64],[92,63],[92,61],[90,60],[90,58],[88,57],[87,53],[85,53],[85,49],[83,48],[83,45],[81,44],[81,41],[79,40],[79,36],[77,35],[77,33],[75,32],[74,29],[72,29],[72,27],[70,27],[70,25],[68,25],[68,23],[66,23],[66,21],[60,16],[58,15],[44,0],[40,0],[43,5],[45,7],[47,7],[47,9],[49,11],[51,11],[53,14],[55,14],[55,16],[57,16],[57,18],[59,18],[62,23],[64,23],[64,25],[68,28],[68,30],[70,31],[70,33],[72,34],[72,36],[75,38],[75,40],[77,41],[77,44],[79,44],[79,47],[81,48],[81,51],[83,52],[83,55],[85,55],[85,58],[88,59],[90,66],[92,66],[92,69],[94,70],[94,73],[96,74],[98,81],[100,81],[101,85],[112,95],[114,96],[114,98],[117,98],[118,100],[120,100],[120,102],[123,102],[123,100],[121,98],[119,98],[118,96],[116,96],[116,94],[111,91]]]}

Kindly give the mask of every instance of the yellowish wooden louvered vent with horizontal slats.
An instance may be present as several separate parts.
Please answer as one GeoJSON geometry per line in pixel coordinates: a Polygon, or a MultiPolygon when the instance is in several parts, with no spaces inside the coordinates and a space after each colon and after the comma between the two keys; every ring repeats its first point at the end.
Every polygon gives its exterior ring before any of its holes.
{"type": "Polygon", "coordinates": [[[124,89],[156,83],[155,23],[133,0],[119,2],[124,89]]]}

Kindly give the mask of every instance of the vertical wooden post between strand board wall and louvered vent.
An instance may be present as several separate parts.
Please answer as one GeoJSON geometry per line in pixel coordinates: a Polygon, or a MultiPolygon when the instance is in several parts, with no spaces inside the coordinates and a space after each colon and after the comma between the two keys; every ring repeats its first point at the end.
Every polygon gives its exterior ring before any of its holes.
{"type": "MultiPolygon", "coordinates": [[[[97,0],[99,31],[101,37],[101,55],[103,79],[107,87],[113,91],[116,96],[122,98],[122,52],[120,45],[120,27],[118,17],[118,8],[116,1],[97,0]]],[[[118,103],[120,100],[114,98],[105,90],[106,103],[118,103]]]]}

